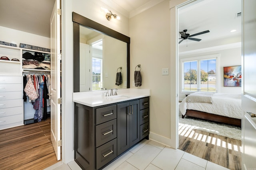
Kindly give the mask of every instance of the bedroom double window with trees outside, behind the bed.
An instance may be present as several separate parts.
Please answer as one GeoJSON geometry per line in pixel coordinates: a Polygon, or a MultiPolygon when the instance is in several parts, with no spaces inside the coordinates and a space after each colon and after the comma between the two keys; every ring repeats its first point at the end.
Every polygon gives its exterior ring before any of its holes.
{"type": "Polygon", "coordinates": [[[217,57],[198,57],[194,60],[182,59],[181,61],[182,92],[217,92],[217,57]]]}

